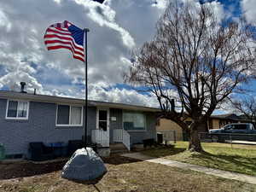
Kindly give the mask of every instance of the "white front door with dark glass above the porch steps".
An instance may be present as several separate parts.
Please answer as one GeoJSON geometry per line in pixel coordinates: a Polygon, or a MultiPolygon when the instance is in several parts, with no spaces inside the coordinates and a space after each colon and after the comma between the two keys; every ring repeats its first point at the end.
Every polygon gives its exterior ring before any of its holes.
{"type": "Polygon", "coordinates": [[[97,109],[97,129],[102,147],[109,147],[109,109],[97,109]]]}

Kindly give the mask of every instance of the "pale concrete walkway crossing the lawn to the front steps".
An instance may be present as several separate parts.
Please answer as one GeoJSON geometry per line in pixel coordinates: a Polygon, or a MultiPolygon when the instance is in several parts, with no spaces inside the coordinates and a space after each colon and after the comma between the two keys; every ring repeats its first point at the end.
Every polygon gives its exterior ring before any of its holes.
{"type": "Polygon", "coordinates": [[[132,159],[145,160],[148,162],[159,163],[166,166],[175,166],[182,169],[193,170],[195,172],[204,172],[209,175],[224,177],[228,179],[234,179],[234,180],[245,182],[245,183],[256,184],[256,177],[241,174],[241,173],[227,172],[227,171],[222,171],[218,169],[207,168],[205,166],[195,166],[188,163],[178,162],[175,160],[166,160],[164,158],[152,158],[141,153],[130,153],[130,154],[121,154],[121,155],[132,158],[132,159]]]}

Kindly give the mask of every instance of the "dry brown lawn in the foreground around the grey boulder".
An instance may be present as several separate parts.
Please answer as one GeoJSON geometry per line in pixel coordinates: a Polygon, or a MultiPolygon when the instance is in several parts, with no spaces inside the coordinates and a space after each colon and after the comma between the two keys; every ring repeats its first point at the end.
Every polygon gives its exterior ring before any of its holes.
{"type": "Polygon", "coordinates": [[[256,186],[212,177],[199,172],[183,171],[120,156],[105,159],[108,173],[100,181],[75,183],[60,177],[65,162],[34,165],[0,164],[1,192],[247,192],[256,186]],[[23,168],[22,168],[23,167],[23,168]],[[33,167],[36,167],[33,169],[33,167]],[[19,172],[17,172],[17,170],[19,172]],[[22,171],[23,170],[23,171],[22,171]],[[32,171],[34,170],[34,171],[32,171]],[[40,174],[44,172],[44,174],[40,174]],[[20,177],[22,176],[22,177],[20,177]],[[28,176],[28,177],[25,177],[28,176]],[[13,178],[11,178],[13,177],[13,178]]]}

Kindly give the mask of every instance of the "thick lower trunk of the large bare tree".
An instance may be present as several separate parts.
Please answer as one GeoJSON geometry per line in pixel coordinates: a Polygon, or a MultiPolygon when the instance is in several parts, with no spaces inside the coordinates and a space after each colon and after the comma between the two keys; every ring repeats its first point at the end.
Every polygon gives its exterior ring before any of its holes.
{"type": "Polygon", "coordinates": [[[198,125],[192,125],[190,127],[189,151],[203,152],[201,141],[198,135],[198,125]]]}

